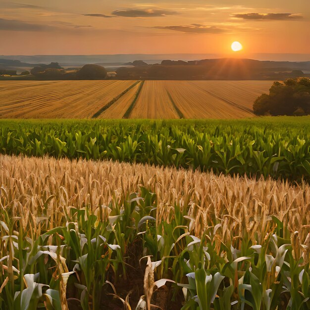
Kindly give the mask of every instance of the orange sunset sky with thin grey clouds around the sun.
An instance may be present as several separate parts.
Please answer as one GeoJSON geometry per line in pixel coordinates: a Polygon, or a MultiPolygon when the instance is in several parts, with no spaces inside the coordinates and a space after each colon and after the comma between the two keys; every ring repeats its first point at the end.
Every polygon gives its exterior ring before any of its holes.
{"type": "Polygon", "coordinates": [[[0,55],[227,56],[233,41],[310,55],[309,0],[0,0],[0,55]]]}

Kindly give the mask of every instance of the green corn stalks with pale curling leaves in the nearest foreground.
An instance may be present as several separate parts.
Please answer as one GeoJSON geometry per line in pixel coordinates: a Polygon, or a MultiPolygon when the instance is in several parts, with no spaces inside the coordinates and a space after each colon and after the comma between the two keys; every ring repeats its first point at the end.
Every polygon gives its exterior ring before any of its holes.
{"type": "Polygon", "coordinates": [[[309,245],[278,218],[258,243],[248,225],[241,238],[216,220],[192,235],[188,207],[175,205],[160,221],[157,207],[156,195],[141,188],[94,211],[66,207],[58,214],[61,225],[47,230],[49,217],[29,214],[26,221],[2,189],[0,308],[61,310],[78,303],[95,310],[114,296],[129,310],[132,292],[117,288],[139,274],[139,260],[145,294],[137,309],[150,310],[153,292],[163,287],[182,310],[310,308],[309,245]]]}

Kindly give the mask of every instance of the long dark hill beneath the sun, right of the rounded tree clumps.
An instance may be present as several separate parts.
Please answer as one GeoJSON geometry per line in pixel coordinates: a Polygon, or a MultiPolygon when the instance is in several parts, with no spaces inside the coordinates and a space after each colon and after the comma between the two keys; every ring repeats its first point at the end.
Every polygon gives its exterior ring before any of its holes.
{"type": "Polygon", "coordinates": [[[219,58],[193,61],[163,60],[161,64],[120,67],[118,79],[145,80],[277,80],[309,76],[310,61],[260,61],[219,58]]]}

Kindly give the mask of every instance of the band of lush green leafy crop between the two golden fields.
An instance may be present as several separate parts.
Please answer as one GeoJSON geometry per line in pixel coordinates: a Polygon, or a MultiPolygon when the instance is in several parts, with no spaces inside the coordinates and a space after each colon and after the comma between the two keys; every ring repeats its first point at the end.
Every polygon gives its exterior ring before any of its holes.
{"type": "MultiPolygon", "coordinates": [[[[251,122],[2,122],[2,154],[113,159],[309,179],[309,125],[251,122]]],[[[296,122],[297,124],[297,122],[296,122]]],[[[307,123],[306,123],[307,124],[307,123]]]]}

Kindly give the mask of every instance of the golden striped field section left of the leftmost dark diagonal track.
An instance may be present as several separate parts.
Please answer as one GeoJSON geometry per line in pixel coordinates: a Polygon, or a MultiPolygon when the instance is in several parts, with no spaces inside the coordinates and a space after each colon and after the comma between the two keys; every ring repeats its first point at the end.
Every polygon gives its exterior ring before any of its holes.
{"type": "Polygon", "coordinates": [[[1,118],[90,118],[135,81],[1,81],[1,118]]]}

